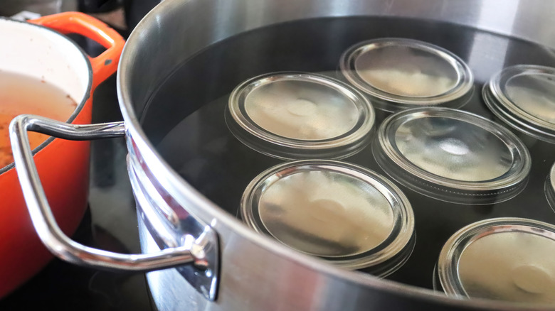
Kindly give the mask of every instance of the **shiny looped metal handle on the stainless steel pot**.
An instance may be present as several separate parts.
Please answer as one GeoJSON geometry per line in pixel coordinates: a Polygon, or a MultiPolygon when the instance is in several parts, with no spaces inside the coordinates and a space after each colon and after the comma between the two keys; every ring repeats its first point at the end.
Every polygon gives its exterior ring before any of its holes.
{"type": "MultiPolygon", "coordinates": [[[[59,258],[70,263],[115,271],[153,271],[175,266],[192,265],[210,275],[217,263],[207,260],[207,248],[214,248],[212,234],[184,239],[183,246],[156,253],[124,254],[94,249],[71,240],[56,224],[33,161],[27,131],[36,131],[58,138],[84,141],[125,136],[123,122],[75,125],[53,121],[41,116],[21,115],[11,121],[9,132],[17,175],[31,220],[43,244],[59,258]],[[205,252],[206,251],[206,252],[205,252]]],[[[205,230],[211,230],[206,227],[205,230]]],[[[217,249],[217,247],[216,247],[217,249]]],[[[213,300],[213,295],[211,295],[213,300]]]]}

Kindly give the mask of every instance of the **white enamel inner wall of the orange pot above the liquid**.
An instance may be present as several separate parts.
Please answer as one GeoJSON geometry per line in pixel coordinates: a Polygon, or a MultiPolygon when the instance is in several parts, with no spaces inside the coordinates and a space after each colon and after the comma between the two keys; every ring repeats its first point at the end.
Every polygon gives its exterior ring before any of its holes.
{"type": "Polygon", "coordinates": [[[88,89],[88,60],[68,38],[46,28],[0,18],[0,70],[56,85],[78,104],[88,89]]]}

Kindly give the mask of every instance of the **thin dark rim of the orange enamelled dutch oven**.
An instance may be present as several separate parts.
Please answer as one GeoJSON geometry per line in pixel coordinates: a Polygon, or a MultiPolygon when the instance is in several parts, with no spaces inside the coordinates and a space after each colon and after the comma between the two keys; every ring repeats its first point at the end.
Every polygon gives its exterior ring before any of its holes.
{"type": "MultiPolygon", "coordinates": [[[[90,60],[87,57],[87,54],[85,53],[83,48],[81,48],[77,43],[75,43],[75,41],[71,40],[67,36],[64,36],[63,33],[60,33],[59,31],[55,31],[52,28],[48,28],[46,26],[37,25],[37,24],[34,24],[34,23],[28,23],[26,21],[17,21],[15,19],[2,17],[2,16],[0,16],[0,21],[9,21],[9,22],[14,22],[14,23],[22,23],[22,24],[26,24],[28,27],[42,28],[43,30],[50,31],[54,36],[59,36],[59,37],[62,37],[64,40],[69,41],[69,43],[71,45],[73,45],[75,48],[77,48],[77,50],[80,52],[80,55],[83,56],[83,59],[85,60],[85,64],[87,65],[87,70],[88,70],[88,77],[87,77],[88,82],[87,82],[87,87],[85,88],[85,95],[83,96],[83,99],[81,99],[81,101],[78,102],[77,107],[75,107],[72,114],[65,121],[66,123],[73,122],[75,120],[75,118],[77,118],[77,116],[83,110],[83,107],[85,107],[85,104],[90,99],[90,97],[91,97],[90,94],[93,90],[93,67],[92,67],[92,65],[90,65],[90,60]]],[[[25,26],[25,27],[27,27],[27,26],[25,26]]],[[[43,143],[41,143],[40,145],[38,145],[36,148],[33,149],[33,155],[36,155],[39,151],[46,148],[46,146],[48,146],[53,140],[54,140],[53,137],[49,137],[48,139],[46,139],[46,141],[43,141],[43,143]]],[[[15,163],[11,162],[9,165],[4,166],[4,168],[0,168],[0,175],[8,172],[9,170],[11,170],[14,167],[15,167],[15,163]]]]}

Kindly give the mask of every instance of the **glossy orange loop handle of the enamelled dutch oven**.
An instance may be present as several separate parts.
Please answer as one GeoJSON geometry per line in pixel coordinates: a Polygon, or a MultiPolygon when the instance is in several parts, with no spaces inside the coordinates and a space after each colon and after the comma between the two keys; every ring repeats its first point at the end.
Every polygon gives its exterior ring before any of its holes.
{"type": "Polygon", "coordinates": [[[106,48],[102,54],[95,58],[88,56],[90,65],[93,67],[92,91],[98,84],[116,72],[125,40],[102,21],[80,12],[64,12],[43,16],[28,22],[46,26],[64,34],[78,33],[95,40],[106,48]]]}

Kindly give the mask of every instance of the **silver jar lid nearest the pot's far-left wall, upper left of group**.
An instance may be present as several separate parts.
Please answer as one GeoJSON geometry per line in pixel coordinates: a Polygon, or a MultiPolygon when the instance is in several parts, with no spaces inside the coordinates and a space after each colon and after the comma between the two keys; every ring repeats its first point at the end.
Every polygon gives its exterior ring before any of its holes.
{"type": "Polygon", "coordinates": [[[226,123],[255,151],[282,159],[345,158],[371,139],[374,108],[347,84],[323,75],[275,72],[233,90],[226,123]]]}

